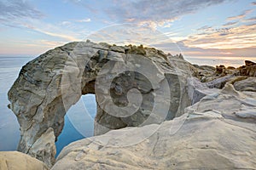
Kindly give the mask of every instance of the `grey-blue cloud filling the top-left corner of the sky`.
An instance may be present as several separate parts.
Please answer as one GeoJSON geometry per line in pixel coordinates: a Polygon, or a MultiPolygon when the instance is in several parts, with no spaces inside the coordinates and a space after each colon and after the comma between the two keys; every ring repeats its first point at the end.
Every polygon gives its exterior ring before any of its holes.
{"type": "Polygon", "coordinates": [[[27,1],[0,1],[0,23],[14,22],[24,19],[40,19],[44,16],[38,9],[33,8],[27,1]]]}

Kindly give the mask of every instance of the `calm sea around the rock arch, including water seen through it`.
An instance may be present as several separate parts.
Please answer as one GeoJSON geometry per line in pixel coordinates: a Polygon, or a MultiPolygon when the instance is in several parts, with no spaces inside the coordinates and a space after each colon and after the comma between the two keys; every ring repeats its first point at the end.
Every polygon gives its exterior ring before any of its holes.
{"type": "MultiPolygon", "coordinates": [[[[32,57],[0,56],[0,151],[16,150],[20,140],[19,123],[15,114],[9,110],[7,93],[18,77],[22,65],[32,57]]],[[[186,57],[197,65],[244,65],[244,60],[256,62],[256,58],[221,58],[221,57],[186,57]]],[[[67,144],[93,136],[94,118],[96,116],[96,98],[94,94],[86,94],[73,105],[65,116],[65,125],[56,144],[57,155],[67,144]]]]}

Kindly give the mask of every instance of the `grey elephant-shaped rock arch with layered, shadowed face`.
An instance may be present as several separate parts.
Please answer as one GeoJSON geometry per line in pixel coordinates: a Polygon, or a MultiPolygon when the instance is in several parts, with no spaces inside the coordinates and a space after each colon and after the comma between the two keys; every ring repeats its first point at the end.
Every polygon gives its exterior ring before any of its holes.
{"type": "Polygon", "coordinates": [[[160,123],[190,105],[187,77],[194,67],[155,48],[71,42],[22,67],[9,90],[20,123],[18,150],[55,162],[64,116],[83,94],[96,94],[95,135],[160,123]]]}

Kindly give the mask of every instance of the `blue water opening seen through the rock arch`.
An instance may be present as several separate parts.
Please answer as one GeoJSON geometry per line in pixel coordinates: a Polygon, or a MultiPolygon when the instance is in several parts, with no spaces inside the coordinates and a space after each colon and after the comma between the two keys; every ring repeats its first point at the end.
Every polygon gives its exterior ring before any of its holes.
{"type": "Polygon", "coordinates": [[[60,154],[67,144],[93,136],[95,116],[96,96],[95,94],[86,93],[67,111],[64,117],[64,127],[55,142],[55,157],[60,154]]]}

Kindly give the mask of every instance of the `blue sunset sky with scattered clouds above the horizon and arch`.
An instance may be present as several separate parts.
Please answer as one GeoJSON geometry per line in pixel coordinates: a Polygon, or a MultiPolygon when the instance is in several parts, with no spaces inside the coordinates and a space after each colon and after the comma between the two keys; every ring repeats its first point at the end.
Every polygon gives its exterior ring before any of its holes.
{"type": "Polygon", "coordinates": [[[144,44],[186,57],[253,58],[253,0],[0,0],[0,55],[67,42],[144,44]]]}

